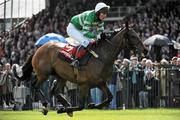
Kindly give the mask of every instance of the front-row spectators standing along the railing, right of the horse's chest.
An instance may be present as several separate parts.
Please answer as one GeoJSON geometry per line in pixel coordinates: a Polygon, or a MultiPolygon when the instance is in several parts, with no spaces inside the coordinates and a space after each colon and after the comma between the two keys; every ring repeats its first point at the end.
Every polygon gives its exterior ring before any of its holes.
{"type": "MultiPolygon", "coordinates": [[[[123,59],[119,66],[116,85],[121,84],[121,107],[127,108],[168,107],[172,106],[169,89],[172,81],[180,80],[180,58],[173,57],[168,62],[164,58],[160,63],[154,63],[150,59],[131,56],[123,59]],[[118,80],[119,78],[119,80],[118,80]]],[[[176,91],[178,92],[178,91],[176,91]]],[[[179,94],[179,93],[178,93],[179,94]]],[[[117,106],[118,107],[118,106],[117,106]]]]}

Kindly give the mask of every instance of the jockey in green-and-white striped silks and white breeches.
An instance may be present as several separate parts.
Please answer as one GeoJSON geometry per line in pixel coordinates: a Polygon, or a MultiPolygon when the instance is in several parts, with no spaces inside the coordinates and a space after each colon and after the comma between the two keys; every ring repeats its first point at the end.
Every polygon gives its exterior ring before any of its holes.
{"type": "Polygon", "coordinates": [[[103,20],[107,17],[109,8],[110,6],[100,2],[94,10],[73,16],[67,26],[67,34],[79,43],[78,46],[86,48],[90,42],[100,39],[104,31],[103,20]]]}

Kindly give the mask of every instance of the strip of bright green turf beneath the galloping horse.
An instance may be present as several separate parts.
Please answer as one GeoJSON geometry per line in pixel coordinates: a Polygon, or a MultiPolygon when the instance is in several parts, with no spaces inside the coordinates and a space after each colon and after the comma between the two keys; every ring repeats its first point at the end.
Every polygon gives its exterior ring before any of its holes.
{"type": "Polygon", "coordinates": [[[0,111],[0,120],[180,120],[180,109],[83,110],[73,117],[50,111],[0,111]]]}

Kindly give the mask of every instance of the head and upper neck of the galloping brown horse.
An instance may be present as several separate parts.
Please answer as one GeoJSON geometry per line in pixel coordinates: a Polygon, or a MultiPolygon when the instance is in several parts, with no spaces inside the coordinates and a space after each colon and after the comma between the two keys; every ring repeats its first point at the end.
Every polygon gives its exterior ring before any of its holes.
{"type": "Polygon", "coordinates": [[[122,49],[147,51],[138,34],[128,25],[121,30],[108,33],[105,39],[99,41],[98,45],[96,52],[107,61],[116,59],[122,49]]]}

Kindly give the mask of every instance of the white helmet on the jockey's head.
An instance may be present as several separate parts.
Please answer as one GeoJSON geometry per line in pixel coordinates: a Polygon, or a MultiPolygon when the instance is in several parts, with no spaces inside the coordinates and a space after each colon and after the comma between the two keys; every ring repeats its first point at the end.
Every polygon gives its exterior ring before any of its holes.
{"type": "Polygon", "coordinates": [[[109,11],[109,8],[110,8],[109,5],[106,5],[106,4],[103,3],[103,2],[99,2],[99,3],[96,4],[96,6],[95,6],[95,12],[96,12],[96,13],[104,13],[104,14],[107,14],[108,11],[109,11]]]}

